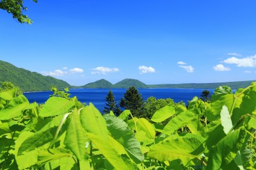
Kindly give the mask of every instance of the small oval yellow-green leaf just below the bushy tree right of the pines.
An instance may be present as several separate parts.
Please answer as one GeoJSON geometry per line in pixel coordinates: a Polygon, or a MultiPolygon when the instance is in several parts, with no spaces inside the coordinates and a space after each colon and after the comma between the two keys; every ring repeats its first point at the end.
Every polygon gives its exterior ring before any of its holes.
{"type": "Polygon", "coordinates": [[[159,123],[159,122],[162,122],[162,121],[170,118],[171,116],[173,116],[173,114],[175,114],[174,107],[166,105],[165,107],[162,107],[161,109],[156,111],[153,114],[151,120],[159,123]]]}

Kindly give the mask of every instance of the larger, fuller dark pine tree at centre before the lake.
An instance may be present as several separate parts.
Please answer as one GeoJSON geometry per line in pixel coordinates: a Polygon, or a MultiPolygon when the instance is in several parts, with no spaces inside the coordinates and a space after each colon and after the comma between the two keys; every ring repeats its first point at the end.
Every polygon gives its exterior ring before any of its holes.
{"type": "Polygon", "coordinates": [[[124,98],[121,98],[119,105],[124,109],[130,110],[133,116],[138,118],[143,116],[143,98],[141,97],[138,89],[134,86],[131,86],[126,90],[124,98]]]}

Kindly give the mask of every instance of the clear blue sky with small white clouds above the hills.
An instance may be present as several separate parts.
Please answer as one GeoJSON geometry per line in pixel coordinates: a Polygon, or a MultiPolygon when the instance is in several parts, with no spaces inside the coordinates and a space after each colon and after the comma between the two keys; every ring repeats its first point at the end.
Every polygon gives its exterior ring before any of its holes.
{"type": "Polygon", "coordinates": [[[72,85],[256,77],[256,1],[24,1],[33,24],[0,10],[0,59],[72,85]]]}

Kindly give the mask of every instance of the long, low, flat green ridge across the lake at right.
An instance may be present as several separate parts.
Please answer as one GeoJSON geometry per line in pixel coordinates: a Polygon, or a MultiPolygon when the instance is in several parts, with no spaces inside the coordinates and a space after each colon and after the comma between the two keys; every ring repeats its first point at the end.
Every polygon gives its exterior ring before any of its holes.
{"type": "Polygon", "coordinates": [[[149,88],[192,88],[192,89],[216,89],[219,86],[229,86],[232,89],[237,89],[237,88],[246,88],[250,86],[252,82],[253,81],[187,83],[187,84],[152,84],[148,86],[149,88]]]}

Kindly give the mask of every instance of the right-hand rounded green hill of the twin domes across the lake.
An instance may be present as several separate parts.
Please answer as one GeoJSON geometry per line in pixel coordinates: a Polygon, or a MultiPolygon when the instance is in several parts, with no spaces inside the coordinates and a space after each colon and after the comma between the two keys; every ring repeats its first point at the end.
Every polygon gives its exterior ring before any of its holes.
{"type": "Polygon", "coordinates": [[[131,86],[134,86],[135,88],[148,88],[147,84],[136,79],[124,79],[114,84],[112,88],[129,88],[131,86]]]}

